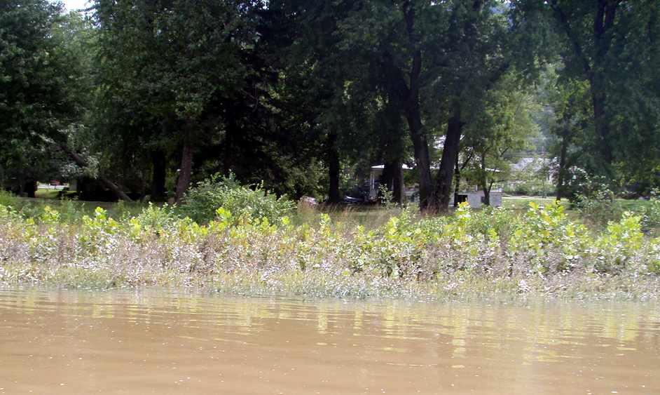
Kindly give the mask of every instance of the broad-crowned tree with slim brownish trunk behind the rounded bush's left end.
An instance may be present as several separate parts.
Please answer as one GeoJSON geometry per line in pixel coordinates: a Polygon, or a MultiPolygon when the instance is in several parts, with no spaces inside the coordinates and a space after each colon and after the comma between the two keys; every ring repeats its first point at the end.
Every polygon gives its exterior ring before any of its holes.
{"type": "Polygon", "coordinates": [[[245,15],[252,6],[230,0],[98,0],[95,6],[108,101],[129,98],[129,108],[153,119],[151,130],[158,132],[160,123],[176,130],[177,202],[191,182],[195,152],[221,121],[223,109],[214,102],[245,88],[242,48],[257,39],[245,15]]]}

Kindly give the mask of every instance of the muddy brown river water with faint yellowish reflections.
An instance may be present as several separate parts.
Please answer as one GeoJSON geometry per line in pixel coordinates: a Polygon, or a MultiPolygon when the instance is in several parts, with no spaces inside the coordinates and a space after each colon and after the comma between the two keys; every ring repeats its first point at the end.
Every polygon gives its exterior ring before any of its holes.
{"type": "Polygon", "coordinates": [[[0,290],[0,394],[660,394],[657,304],[0,290]]]}

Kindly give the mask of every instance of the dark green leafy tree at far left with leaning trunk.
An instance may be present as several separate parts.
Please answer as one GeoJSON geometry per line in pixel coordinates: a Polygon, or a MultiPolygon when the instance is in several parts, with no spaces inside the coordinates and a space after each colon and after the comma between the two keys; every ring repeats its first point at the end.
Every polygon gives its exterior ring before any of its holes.
{"type": "MultiPolygon", "coordinates": [[[[65,17],[59,4],[48,1],[0,4],[0,139],[46,144],[44,154],[59,147],[87,167],[89,162],[67,144],[67,131],[81,120],[88,101],[81,53],[68,41],[80,24],[76,14],[65,17]]],[[[102,175],[99,180],[118,199],[129,199],[114,182],[102,175]]]]}

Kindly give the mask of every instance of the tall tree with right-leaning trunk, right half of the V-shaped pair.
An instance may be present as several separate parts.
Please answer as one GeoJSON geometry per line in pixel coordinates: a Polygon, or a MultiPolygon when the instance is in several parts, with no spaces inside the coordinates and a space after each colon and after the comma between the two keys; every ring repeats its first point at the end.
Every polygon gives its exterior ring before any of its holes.
{"type": "MultiPolygon", "coordinates": [[[[437,105],[446,114],[446,137],[434,184],[434,210],[448,210],[460,140],[467,123],[484,111],[488,92],[509,69],[525,65],[519,56],[518,25],[511,13],[518,11],[495,1],[457,1],[449,29],[436,44],[434,55],[439,78],[434,86],[437,105]],[[516,59],[518,57],[518,59],[516,59]]],[[[533,51],[533,48],[530,48],[533,51]]]]}

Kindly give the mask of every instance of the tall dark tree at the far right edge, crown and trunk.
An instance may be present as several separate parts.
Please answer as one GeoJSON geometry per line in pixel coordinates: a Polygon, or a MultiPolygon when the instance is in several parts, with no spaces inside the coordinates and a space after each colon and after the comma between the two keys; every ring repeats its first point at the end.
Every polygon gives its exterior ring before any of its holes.
{"type": "MultiPolygon", "coordinates": [[[[626,114],[634,119],[641,113],[649,119],[653,112],[649,112],[649,105],[656,101],[649,99],[658,97],[652,85],[654,78],[648,74],[652,71],[645,67],[658,50],[658,4],[643,0],[552,0],[549,6],[565,43],[565,74],[589,82],[594,148],[598,152],[598,163],[591,170],[611,176],[613,163],[625,161],[625,139],[619,133],[634,129],[630,124],[618,128],[617,117],[626,114]]],[[[656,125],[638,126],[656,130],[656,125]]]]}

